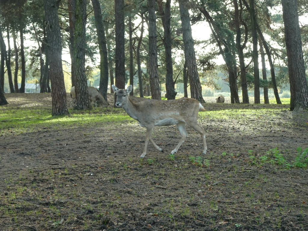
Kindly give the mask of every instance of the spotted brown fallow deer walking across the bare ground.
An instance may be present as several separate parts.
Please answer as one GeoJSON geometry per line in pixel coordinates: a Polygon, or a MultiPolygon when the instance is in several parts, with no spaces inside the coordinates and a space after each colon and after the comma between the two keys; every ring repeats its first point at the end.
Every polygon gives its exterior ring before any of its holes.
{"type": "Polygon", "coordinates": [[[137,120],[141,127],[147,129],[144,150],[140,157],[144,157],[146,155],[148,141],[151,141],[157,150],[161,152],[163,151],[163,149],[158,147],[151,138],[151,134],[155,126],[170,126],[174,124],[176,124],[182,137],[180,142],[172,150],[171,154],[177,152],[187,137],[185,124],[188,124],[200,133],[203,140],[203,154],[206,154],[207,147],[204,129],[197,123],[198,111],[205,111],[205,109],[197,99],[147,99],[135,103],[128,96],[129,92],[132,91],[132,85],[129,85],[127,89],[119,89],[115,87],[115,85],[112,85],[111,87],[117,95],[115,105],[117,107],[122,106],[130,117],[137,120]]]}

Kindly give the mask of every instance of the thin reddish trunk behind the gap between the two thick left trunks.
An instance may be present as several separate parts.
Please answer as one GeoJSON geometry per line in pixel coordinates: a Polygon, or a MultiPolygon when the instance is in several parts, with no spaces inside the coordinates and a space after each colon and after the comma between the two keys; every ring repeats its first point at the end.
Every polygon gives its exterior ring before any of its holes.
{"type": "Polygon", "coordinates": [[[75,69],[76,65],[74,62],[74,27],[75,27],[75,11],[76,11],[76,2],[75,0],[67,0],[67,8],[68,8],[68,21],[69,21],[69,44],[68,47],[70,49],[71,56],[71,81],[72,87],[76,85],[76,75],[75,69]]]}

